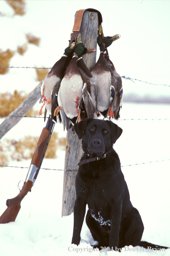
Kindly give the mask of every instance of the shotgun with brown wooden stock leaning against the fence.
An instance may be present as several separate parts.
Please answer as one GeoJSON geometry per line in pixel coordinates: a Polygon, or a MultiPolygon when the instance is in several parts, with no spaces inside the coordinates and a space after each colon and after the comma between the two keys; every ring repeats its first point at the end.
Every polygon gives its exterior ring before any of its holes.
{"type": "Polygon", "coordinates": [[[7,209],[0,216],[0,224],[15,222],[18,212],[21,209],[22,199],[27,195],[29,191],[31,191],[31,187],[36,181],[37,175],[39,173],[39,169],[41,167],[43,158],[46,153],[46,149],[49,144],[49,140],[52,135],[54,125],[55,125],[55,122],[51,120],[51,117],[49,116],[46,127],[43,128],[43,131],[38,140],[38,144],[36,145],[36,149],[33,154],[33,157],[30,163],[30,168],[28,170],[24,185],[20,193],[18,194],[18,196],[12,199],[6,200],[7,209]]]}

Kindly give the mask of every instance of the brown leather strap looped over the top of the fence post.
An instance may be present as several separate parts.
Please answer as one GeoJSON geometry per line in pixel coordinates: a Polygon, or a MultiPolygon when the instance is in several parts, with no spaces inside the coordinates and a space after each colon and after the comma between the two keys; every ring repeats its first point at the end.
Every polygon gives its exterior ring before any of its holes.
{"type": "Polygon", "coordinates": [[[80,28],[81,28],[81,25],[82,25],[82,17],[83,17],[83,14],[85,11],[89,11],[89,12],[97,12],[98,13],[98,22],[99,22],[99,25],[101,25],[102,23],[102,15],[99,11],[97,11],[96,9],[91,9],[91,8],[88,8],[88,9],[80,9],[77,14],[76,14],[76,19],[74,21],[74,26],[73,26],[73,34],[72,34],[72,37],[71,37],[71,40],[69,42],[69,46],[72,44],[73,42],[73,39],[74,37],[76,36],[76,39],[77,39],[77,35],[79,34],[80,32],[80,28]]]}

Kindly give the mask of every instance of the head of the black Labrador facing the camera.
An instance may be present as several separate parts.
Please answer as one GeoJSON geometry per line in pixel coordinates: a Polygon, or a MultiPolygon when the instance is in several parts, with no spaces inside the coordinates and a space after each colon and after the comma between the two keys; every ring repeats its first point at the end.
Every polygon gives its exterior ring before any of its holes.
{"type": "Polygon", "coordinates": [[[79,140],[82,139],[83,151],[91,156],[109,152],[122,133],[112,121],[92,118],[76,123],[74,129],[79,140]]]}

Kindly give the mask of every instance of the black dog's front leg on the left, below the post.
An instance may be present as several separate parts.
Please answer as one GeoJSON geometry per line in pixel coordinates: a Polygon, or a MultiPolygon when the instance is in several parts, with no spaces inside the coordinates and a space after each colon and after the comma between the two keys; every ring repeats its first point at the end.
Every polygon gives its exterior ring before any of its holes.
{"type": "Polygon", "coordinates": [[[74,228],[72,244],[78,245],[80,243],[80,233],[82,230],[82,224],[85,218],[85,206],[86,203],[80,198],[76,199],[74,203],[74,228]]]}

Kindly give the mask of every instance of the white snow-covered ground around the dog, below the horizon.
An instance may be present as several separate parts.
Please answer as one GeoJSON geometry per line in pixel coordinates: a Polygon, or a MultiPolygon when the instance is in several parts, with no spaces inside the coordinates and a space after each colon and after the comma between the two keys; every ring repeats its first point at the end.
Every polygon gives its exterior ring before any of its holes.
{"type": "MultiPolygon", "coordinates": [[[[169,118],[170,105],[124,103],[121,119],[169,118]]],[[[23,119],[5,137],[11,137],[16,129],[39,122],[40,134],[44,123],[42,119],[23,119]],[[29,121],[28,121],[29,120],[29,121]],[[11,135],[10,135],[11,134],[11,135]]],[[[117,121],[123,133],[114,148],[121,159],[121,165],[129,165],[170,158],[170,120],[162,121],[117,121]]],[[[37,127],[39,126],[36,123],[37,127]]],[[[64,136],[62,125],[55,125],[59,136],[64,136]]],[[[33,131],[29,131],[33,134],[33,131]]],[[[57,151],[56,159],[44,159],[42,168],[64,169],[63,150],[57,151]]],[[[12,166],[28,167],[30,160],[10,162],[12,166]]],[[[28,169],[4,167],[0,169],[0,214],[6,209],[6,199],[18,193],[18,182],[25,180],[28,169]]],[[[143,240],[170,247],[170,161],[145,165],[122,167],[131,195],[131,202],[143,219],[145,230],[143,240]]],[[[86,224],[83,224],[79,247],[71,245],[73,234],[73,214],[61,218],[63,171],[41,169],[31,193],[21,202],[21,209],[15,222],[0,225],[0,256],[82,256],[105,255],[102,251],[91,252],[94,240],[86,224]],[[76,249],[80,249],[76,253],[76,249]],[[69,251],[70,250],[70,251],[69,251]]],[[[122,255],[155,255],[144,250],[137,252],[133,247],[122,250],[122,255]]],[[[108,252],[115,255],[118,252],[108,252]]],[[[156,255],[170,255],[170,249],[156,252],[156,255]]]]}

